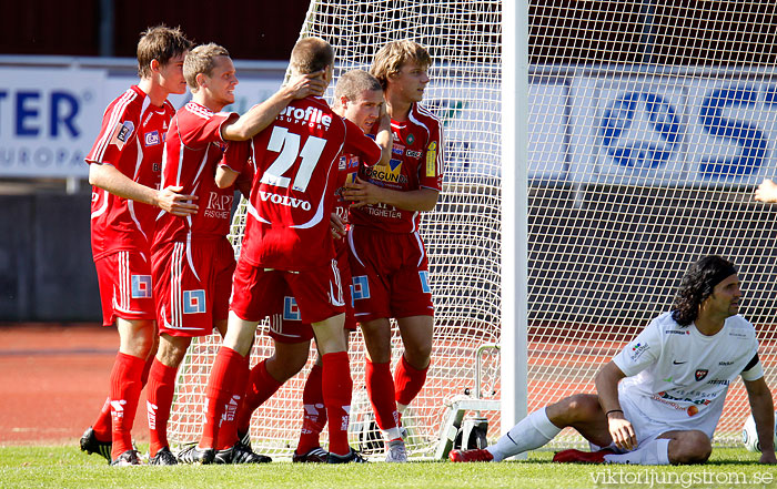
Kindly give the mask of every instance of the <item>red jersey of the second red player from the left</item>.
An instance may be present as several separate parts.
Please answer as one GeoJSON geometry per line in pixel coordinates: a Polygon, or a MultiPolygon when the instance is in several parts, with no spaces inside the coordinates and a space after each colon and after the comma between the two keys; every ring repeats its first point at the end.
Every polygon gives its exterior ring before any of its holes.
{"type": "Polygon", "coordinates": [[[236,118],[234,112],[215,113],[196,102],[189,102],[175,113],[164,144],[162,185],[182,186],[182,194],[196,195],[200,210],[186,217],[161,213],[154,247],[229,233],[234,191],[216,186],[215,169],[228,146],[221,137],[221,126],[236,118]]]}

